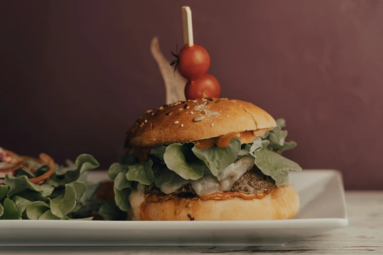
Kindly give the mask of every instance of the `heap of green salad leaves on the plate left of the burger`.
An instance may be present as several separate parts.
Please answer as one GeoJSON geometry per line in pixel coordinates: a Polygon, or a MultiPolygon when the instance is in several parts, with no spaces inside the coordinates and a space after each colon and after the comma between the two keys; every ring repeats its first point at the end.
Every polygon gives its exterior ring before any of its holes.
{"type": "Polygon", "coordinates": [[[61,219],[91,220],[96,212],[104,219],[115,219],[121,211],[114,203],[99,201],[99,183],[88,185],[87,171],[99,167],[89,154],[77,157],[68,166],[56,165],[55,173],[43,184],[31,183],[28,178],[41,176],[49,170],[33,162],[33,173],[27,168],[7,174],[0,184],[0,219],[61,219]]]}

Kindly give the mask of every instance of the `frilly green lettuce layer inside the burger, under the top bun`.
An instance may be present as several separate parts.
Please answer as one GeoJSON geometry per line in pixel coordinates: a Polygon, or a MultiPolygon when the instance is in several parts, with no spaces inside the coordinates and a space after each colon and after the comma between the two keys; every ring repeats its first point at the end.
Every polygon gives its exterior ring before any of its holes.
{"type": "Polygon", "coordinates": [[[189,180],[197,180],[205,174],[219,175],[225,168],[242,157],[254,159],[255,166],[265,175],[274,179],[277,186],[289,182],[289,170],[302,170],[301,167],[280,153],[293,149],[296,143],[286,142],[287,131],[284,119],[277,120],[277,126],[267,131],[253,142],[242,144],[233,138],[225,149],[214,146],[199,149],[195,143],[171,144],[153,148],[151,159],[140,164],[131,153],[121,157],[109,169],[109,177],[114,180],[116,205],[122,211],[130,209],[128,197],[132,187],[138,183],[157,188],[166,187],[170,183],[186,184],[189,180]]]}

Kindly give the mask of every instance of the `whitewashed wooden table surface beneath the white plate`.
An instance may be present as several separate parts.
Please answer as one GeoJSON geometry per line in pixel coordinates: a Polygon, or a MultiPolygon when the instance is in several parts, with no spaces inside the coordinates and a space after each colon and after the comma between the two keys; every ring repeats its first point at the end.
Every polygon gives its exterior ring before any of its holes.
{"type": "Polygon", "coordinates": [[[347,191],[346,228],[295,240],[285,246],[246,247],[0,247],[9,255],[129,255],[129,254],[383,254],[383,191],[347,191]]]}

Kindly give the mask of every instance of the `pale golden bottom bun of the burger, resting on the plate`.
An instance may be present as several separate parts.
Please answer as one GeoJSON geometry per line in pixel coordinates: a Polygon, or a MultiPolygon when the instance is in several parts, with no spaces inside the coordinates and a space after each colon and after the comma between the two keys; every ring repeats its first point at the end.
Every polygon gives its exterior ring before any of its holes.
{"type": "Polygon", "coordinates": [[[130,203],[133,220],[291,219],[299,209],[299,197],[292,185],[275,188],[263,198],[251,200],[174,198],[147,203],[142,191],[133,191],[130,203]]]}

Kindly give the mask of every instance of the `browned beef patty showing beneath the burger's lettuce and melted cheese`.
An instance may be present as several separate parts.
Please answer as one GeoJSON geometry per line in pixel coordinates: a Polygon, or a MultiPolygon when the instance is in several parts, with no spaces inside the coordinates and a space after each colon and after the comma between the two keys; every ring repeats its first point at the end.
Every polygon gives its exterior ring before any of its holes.
{"type": "MultiPolygon", "coordinates": [[[[259,169],[247,171],[238,181],[233,184],[231,191],[241,191],[247,193],[270,192],[276,188],[275,181],[261,172],[259,169]]],[[[164,195],[164,193],[153,184],[145,186],[145,193],[164,195]]],[[[178,191],[171,195],[196,195],[190,184],[182,186],[178,191]]]]}

